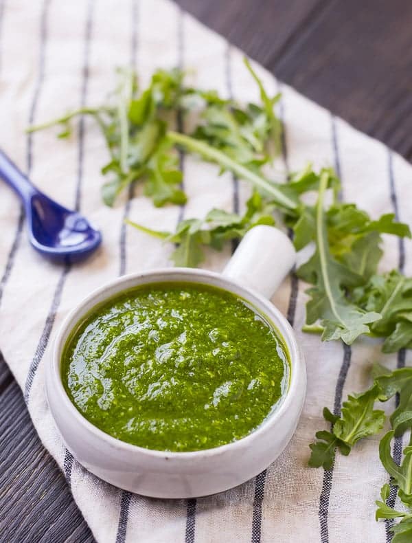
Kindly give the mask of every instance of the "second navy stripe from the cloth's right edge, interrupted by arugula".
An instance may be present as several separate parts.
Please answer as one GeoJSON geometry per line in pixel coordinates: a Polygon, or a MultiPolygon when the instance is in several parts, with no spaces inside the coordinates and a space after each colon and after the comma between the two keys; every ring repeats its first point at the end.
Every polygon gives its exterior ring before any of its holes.
{"type": "MultiPolygon", "coordinates": [[[[336,129],[336,119],[334,115],[330,115],[330,127],[332,134],[332,149],[334,153],[334,169],[336,174],[341,177],[341,162],[339,158],[339,145],[338,145],[338,133],[336,129]]],[[[340,195],[342,197],[342,193],[340,195]]],[[[341,364],[341,369],[339,370],[339,376],[336,381],[335,393],[334,393],[334,414],[341,414],[341,405],[342,405],[342,395],[343,388],[345,386],[345,381],[347,377],[347,372],[350,368],[350,363],[352,360],[352,348],[345,343],[343,345],[343,360],[341,364]]],[[[333,482],[333,472],[334,465],[330,469],[325,469],[323,472],[323,481],[321,496],[319,497],[319,524],[321,531],[321,542],[328,543],[329,541],[329,527],[328,527],[328,515],[329,515],[329,502],[330,502],[330,493],[332,491],[332,482],[333,482]]]]}

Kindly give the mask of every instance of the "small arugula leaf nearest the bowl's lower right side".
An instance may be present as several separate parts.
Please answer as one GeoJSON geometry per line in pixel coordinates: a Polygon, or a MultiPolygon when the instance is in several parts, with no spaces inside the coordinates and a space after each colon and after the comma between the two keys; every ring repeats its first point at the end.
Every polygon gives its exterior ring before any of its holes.
{"type": "Polygon", "coordinates": [[[341,417],[323,409],[323,417],[332,423],[331,432],[317,432],[318,441],[309,445],[312,450],[309,465],[330,469],[334,463],[336,448],[347,456],[353,445],[366,436],[378,434],[385,423],[385,412],[374,410],[380,397],[380,388],[372,386],[361,394],[349,395],[343,402],[341,417]]]}

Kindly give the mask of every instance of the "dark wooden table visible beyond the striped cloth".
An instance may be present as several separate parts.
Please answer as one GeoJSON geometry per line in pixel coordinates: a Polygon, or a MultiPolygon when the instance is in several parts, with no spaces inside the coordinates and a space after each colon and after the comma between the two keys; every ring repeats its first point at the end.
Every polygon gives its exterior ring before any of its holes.
{"type": "MultiPolygon", "coordinates": [[[[412,159],[411,0],[176,1],[281,80],[412,159]]],[[[0,358],[0,542],[62,541],[93,536],[0,358]]]]}

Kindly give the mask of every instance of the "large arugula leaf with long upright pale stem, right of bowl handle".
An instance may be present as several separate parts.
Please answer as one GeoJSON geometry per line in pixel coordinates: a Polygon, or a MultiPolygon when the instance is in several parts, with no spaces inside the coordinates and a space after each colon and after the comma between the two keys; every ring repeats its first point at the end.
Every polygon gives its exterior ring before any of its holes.
{"type": "Polygon", "coordinates": [[[380,318],[375,311],[364,311],[345,297],[344,286],[354,286],[362,278],[334,260],[328,245],[328,232],[323,201],[328,187],[328,173],[321,174],[316,206],[317,250],[310,260],[297,270],[297,275],[314,283],[308,289],[310,300],[306,304],[306,322],[320,320],[323,340],[343,340],[352,344],[358,335],[369,332],[371,322],[380,318]]]}

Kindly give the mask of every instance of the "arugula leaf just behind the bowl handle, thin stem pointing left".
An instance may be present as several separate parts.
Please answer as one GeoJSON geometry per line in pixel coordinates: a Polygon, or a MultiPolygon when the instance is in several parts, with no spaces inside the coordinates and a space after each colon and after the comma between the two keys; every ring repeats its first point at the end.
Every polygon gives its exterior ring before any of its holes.
{"type": "Polygon", "coordinates": [[[275,224],[271,214],[272,209],[271,204],[264,203],[258,192],[254,192],[247,201],[247,209],[243,217],[236,213],[213,209],[204,220],[181,221],[176,231],[172,233],[157,232],[132,221],[126,222],[146,234],[166,242],[176,243],[177,247],[170,256],[176,266],[196,267],[205,258],[203,252],[205,245],[221,250],[226,241],[241,239],[255,225],[275,224]]]}

